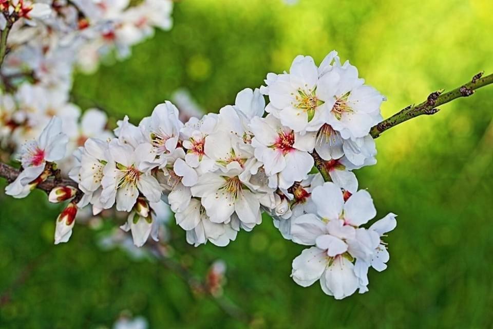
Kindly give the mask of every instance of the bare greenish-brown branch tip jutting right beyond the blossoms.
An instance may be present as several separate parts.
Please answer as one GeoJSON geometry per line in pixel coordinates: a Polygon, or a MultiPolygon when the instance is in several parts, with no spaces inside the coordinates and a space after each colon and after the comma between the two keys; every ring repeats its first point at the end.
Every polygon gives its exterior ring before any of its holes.
{"type": "Polygon", "coordinates": [[[431,93],[428,99],[419,105],[410,105],[402,109],[399,113],[394,114],[388,119],[378,123],[370,130],[370,135],[373,138],[377,138],[386,130],[401,124],[409,119],[420,115],[432,115],[440,111],[438,106],[448,103],[459,97],[467,97],[474,94],[474,91],[478,88],[484,87],[493,83],[493,74],[483,77],[483,72],[475,75],[472,80],[462,86],[451,90],[445,94],[443,90],[431,93]]]}

